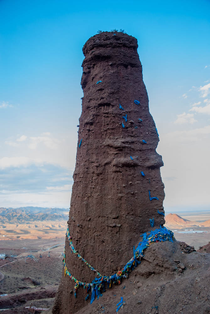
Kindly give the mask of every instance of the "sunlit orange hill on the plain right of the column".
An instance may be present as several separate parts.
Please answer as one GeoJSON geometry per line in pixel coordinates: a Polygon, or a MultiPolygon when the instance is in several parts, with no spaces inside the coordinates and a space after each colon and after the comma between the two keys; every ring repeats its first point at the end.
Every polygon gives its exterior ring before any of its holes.
{"type": "Polygon", "coordinates": [[[203,222],[198,222],[184,219],[177,214],[168,214],[165,216],[165,227],[167,228],[210,227],[210,219],[203,222]]]}

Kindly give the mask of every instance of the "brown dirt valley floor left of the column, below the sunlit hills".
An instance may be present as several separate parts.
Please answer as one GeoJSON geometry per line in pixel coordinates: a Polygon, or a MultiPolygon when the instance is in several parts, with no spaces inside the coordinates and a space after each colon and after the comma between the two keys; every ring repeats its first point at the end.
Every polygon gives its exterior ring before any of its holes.
{"type": "Polygon", "coordinates": [[[10,308],[5,314],[29,313],[25,306],[31,303],[36,307],[52,306],[62,274],[64,241],[63,231],[59,236],[54,233],[51,239],[0,241],[0,252],[16,255],[0,260],[0,271],[4,275],[0,294],[8,294],[0,297],[0,309],[10,308]],[[38,262],[25,259],[27,255],[33,255],[38,262]]]}

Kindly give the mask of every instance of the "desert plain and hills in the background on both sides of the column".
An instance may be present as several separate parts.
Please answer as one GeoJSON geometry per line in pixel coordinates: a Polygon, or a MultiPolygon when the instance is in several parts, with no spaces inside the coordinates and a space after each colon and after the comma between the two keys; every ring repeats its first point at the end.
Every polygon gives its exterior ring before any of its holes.
{"type": "MultiPolygon", "coordinates": [[[[1,208],[0,213],[0,254],[6,254],[6,258],[0,260],[0,310],[8,309],[4,313],[29,313],[26,307],[31,304],[37,308],[51,307],[63,269],[67,209],[1,208]],[[57,215],[53,213],[56,210],[57,215]],[[63,220],[50,220],[55,216],[63,220]],[[45,217],[46,220],[38,220],[37,217],[45,217]],[[26,222],[27,219],[31,220],[26,222]]],[[[165,226],[177,230],[174,231],[176,240],[184,241],[196,250],[204,246],[201,252],[208,252],[210,212],[202,215],[188,212],[183,213],[183,217],[168,214],[165,226]]],[[[110,297],[113,298],[113,294],[114,290],[110,297]]]]}

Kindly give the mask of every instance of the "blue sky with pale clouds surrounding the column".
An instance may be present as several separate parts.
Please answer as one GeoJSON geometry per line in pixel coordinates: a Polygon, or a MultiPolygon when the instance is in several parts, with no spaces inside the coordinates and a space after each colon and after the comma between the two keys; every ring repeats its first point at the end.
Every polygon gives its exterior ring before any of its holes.
{"type": "Polygon", "coordinates": [[[162,154],[165,210],[209,209],[209,1],[0,1],[0,206],[69,207],[82,47],[138,40],[162,154]]]}

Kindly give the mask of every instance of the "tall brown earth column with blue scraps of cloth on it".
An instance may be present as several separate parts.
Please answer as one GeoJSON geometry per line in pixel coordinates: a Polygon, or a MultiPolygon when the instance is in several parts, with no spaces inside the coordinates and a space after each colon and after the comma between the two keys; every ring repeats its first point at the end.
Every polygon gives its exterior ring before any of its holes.
{"type": "MultiPolygon", "coordinates": [[[[157,212],[163,211],[163,162],[155,150],[159,137],[137,40],[115,34],[103,32],[83,46],[84,97],[68,221],[75,249],[103,275],[129,261],[141,233],[164,224],[157,212]],[[150,200],[149,191],[158,200],[150,200]],[[149,219],[154,219],[153,228],[149,219]]],[[[69,272],[91,282],[95,273],[71,253],[68,243],[66,238],[69,272]]],[[[62,275],[53,313],[75,313],[84,306],[86,293],[79,288],[75,299],[74,284],[62,275]]]]}

